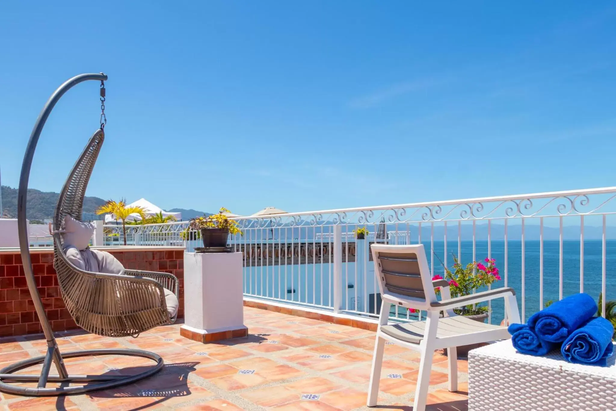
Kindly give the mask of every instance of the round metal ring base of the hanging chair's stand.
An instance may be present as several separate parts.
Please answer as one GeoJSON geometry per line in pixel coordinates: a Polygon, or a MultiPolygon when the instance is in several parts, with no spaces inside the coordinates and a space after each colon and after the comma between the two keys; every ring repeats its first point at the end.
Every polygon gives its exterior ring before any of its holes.
{"type": "MultiPolygon", "coordinates": [[[[68,375],[67,378],[62,378],[59,375],[49,375],[48,382],[51,383],[66,383],[67,386],[57,388],[31,388],[15,386],[6,383],[12,382],[37,382],[40,375],[22,375],[13,374],[13,372],[22,370],[23,368],[31,367],[32,365],[42,364],[46,356],[26,359],[15,364],[11,364],[0,370],[0,391],[21,396],[60,396],[67,394],[83,394],[91,391],[99,391],[101,389],[110,389],[118,386],[128,385],[135,381],[142,380],[148,376],[163,369],[164,361],[161,356],[150,351],[142,351],[139,349],[88,349],[82,351],[70,351],[62,354],[62,358],[86,357],[86,356],[132,356],[144,357],[156,362],[155,365],[149,367],[142,373],[136,375],[68,375]],[[89,384],[79,386],[68,386],[70,383],[89,384]]],[[[70,367],[69,367],[70,368],[70,367]]]]}

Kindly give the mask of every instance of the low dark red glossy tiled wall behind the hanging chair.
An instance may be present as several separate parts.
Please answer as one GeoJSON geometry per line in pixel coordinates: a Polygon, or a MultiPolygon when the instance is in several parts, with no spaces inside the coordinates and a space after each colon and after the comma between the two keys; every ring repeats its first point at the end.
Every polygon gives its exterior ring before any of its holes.
{"type": "MultiPolygon", "coordinates": [[[[184,318],[184,251],[112,251],[128,269],[164,271],[176,275],[180,282],[179,318],[184,318]]],[[[31,253],[34,279],[47,319],[54,331],[78,328],[60,297],[54,269],[54,253],[31,253]]],[[[41,333],[41,324],[23,273],[22,256],[0,254],[0,336],[41,333]]]]}

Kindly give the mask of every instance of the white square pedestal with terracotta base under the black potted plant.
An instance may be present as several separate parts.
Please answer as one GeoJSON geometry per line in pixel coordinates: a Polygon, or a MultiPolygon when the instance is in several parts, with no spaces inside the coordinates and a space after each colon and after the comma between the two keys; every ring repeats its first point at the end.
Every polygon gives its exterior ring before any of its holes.
{"type": "Polygon", "coordinates": [[[241,253],[184,253],[184,325],[201,343],[248,335],[241,253]]]}

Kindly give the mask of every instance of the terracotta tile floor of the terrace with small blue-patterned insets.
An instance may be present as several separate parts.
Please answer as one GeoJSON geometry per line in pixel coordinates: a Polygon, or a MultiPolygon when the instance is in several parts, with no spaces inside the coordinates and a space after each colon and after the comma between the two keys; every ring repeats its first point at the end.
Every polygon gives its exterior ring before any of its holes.
{"type": "MultiPolygon", "coordinates": [[[[180,337],[179,325],[139,338],[63,333],[60,349],[140,348],[165,360],[163,371],[133,385],[65,397],[0,394],[0,410],[363,410],[375,333],[245,307],[249,336],[221,344],[180,337]],[[309,397],[310,399],[306,399],[309,397]]],[[[0,367],[44,353],[41,335],[0,340],[0,367]]],[[[419,356],[387,344],[379,407],[412,410],[419,356]],[[400,378],[391,378],[391,375],[400,378]]],[[[458,360],[460,391],[447,391],[446,357],[437,354],[428,410],[467,410],[466,361],[458,360]]],[[[67,359],[70,373],[135,373],[149,360],[131,357],[67,359]]],[[[36,367],[25,373],[38,372],[36,367]]],[[[55,370],[52,370],[55,373],[55,370]]],[[[34,383],[32,386],[35,386],[34,383]]]]}

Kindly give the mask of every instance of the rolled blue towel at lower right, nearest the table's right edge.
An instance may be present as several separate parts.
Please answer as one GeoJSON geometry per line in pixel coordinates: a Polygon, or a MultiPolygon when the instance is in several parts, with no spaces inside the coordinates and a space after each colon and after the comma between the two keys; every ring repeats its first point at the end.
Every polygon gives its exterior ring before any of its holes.
{"type": "Polygon", "coordinates": [[[603,317],[594,317],[575,330],[562,343],[565,360],[575,364],[607,365],[607,357],[614,352],[614,325],[603,317]]]}

